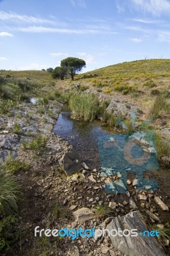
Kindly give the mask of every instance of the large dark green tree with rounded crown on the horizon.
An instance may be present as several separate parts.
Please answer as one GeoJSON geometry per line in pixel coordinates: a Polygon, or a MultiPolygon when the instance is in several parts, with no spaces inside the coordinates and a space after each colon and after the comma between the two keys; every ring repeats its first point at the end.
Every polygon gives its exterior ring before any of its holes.
{"type": "Polygon", "coordinates": [[[73,77],[76,72],[80,72],[83,67],[86,67],[86,62],[79,58],[68,57],[65,60],[61,60],[61,67],[68,70],[68,74],[73,77]]]}

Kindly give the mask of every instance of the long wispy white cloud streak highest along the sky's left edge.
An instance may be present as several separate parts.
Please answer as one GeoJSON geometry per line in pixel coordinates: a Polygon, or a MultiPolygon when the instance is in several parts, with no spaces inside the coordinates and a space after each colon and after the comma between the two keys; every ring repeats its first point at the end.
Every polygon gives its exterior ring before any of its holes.
{"type": "Polygon", "coordinates": [[[54,21],[41,19],[39,17],[20,15],[15,12],[2,12],[0,11],[0,20],[12,20],[14,22],[27,22],[35,24],[54,24],[54,21]]]}

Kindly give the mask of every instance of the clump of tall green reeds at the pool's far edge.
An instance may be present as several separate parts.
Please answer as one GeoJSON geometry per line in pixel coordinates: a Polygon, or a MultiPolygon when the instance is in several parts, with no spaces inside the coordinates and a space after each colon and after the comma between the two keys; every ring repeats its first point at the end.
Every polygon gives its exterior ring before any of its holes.
{"type": "Polygon", "coordinates": [[[98,112],[98,100],[92,93],[75,93],[70,97],[68,105],[75,118],[86,121],[94,120],[98,112]]]}

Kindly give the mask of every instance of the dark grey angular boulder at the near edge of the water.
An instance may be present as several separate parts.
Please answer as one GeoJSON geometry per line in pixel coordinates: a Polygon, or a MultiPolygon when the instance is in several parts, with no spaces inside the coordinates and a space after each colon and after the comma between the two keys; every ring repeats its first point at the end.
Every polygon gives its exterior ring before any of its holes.
{"type": "Polygon", "coordinates": [[[74,148],[70,148],[70,150],[59,159],[59,164],[63,166],[67,175],[71,175],[82,169],[81,159],[74,148]]]}

